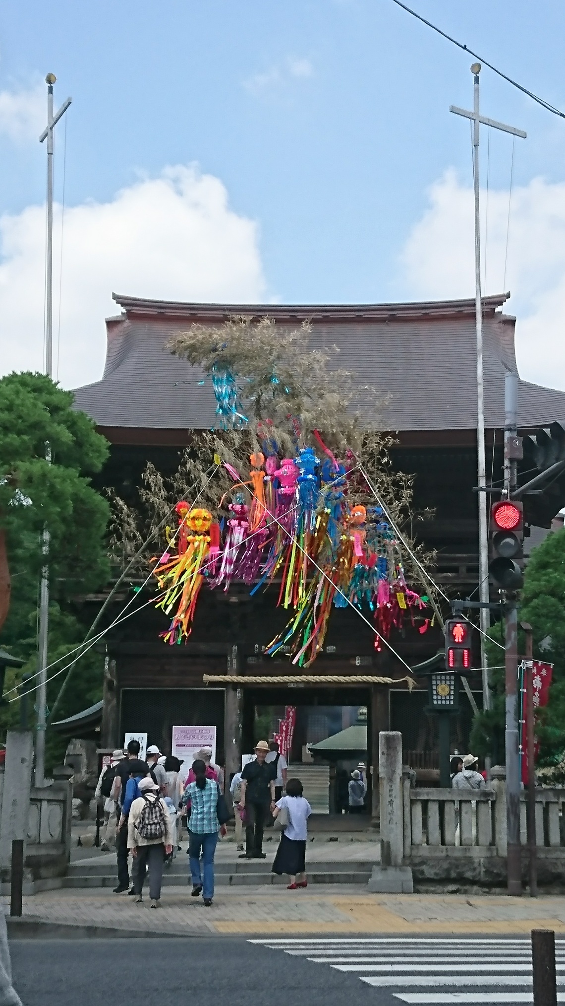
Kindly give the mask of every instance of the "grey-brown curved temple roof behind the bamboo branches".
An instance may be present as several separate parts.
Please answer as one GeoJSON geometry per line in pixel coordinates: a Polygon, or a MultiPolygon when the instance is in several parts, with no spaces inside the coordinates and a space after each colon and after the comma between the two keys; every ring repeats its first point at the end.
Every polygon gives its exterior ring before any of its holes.
{"type": "MultiPolygon", "coordinates": [[[[483,299],[485,425],[504,427],[504,376],[516,371],[516,319],[500,309],[510,295],[483,299]]],[[[312,322],[309,345],[337,346],[337,365],[360,388],[383,398],[391,431],[477,427],[475,300],[408,304],[182,304],[115,294],[123,313],[107,320],[102,379],[76,388],[75,404],[101,428],[190,430],[213,427],[211,381],[167,342],[194,322],[221,324],[233,315],[275,319],[288,331],[312,322]]],[[[307,346],[305,345],[305,352],[307,346]]],[[[519,426],[565,421],[565,392],[520,381],[519,426]]]]}

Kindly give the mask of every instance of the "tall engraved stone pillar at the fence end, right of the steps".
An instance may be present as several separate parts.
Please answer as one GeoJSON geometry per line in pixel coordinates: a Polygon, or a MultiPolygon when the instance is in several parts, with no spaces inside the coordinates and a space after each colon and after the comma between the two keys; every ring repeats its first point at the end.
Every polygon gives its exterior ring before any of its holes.
{"type": "Polygon", "coordinates": [[[402,734],[379,733],[381,862],[400,866],[404,853],[402,817],[402,734]]]}

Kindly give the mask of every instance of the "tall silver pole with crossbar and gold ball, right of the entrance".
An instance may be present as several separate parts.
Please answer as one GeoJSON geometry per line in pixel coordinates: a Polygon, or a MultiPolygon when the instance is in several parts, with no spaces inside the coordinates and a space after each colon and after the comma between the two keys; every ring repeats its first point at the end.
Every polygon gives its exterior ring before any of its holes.
{"type": "MultiPolygon", "coordinates": [[[[479,201],[479,127],[480,123],[504,133],[526,139],[523,130],[504,123],[495,122],[480,115],[479,108],[479,74],[481,63],[473,63],[473,112],[449,106],[449,112],[463,116],[473,122],[473,175],[475,188],[475,323],[477,328],[477,474],[479,484],[479,600],[482,606],[488,606],[489,596],[489,524],[487,519],[487,463],[485,457],[485,395],[483,382],[483,305],[481,300],[481,217],[479,201]]],[[[489,664],[487,659],[485,636],[491,626],[491,613],[488,607],[481,607],[481,668],[483,677],[483,706],[491,708],[491,692],[489,690],[489,664]]]]}

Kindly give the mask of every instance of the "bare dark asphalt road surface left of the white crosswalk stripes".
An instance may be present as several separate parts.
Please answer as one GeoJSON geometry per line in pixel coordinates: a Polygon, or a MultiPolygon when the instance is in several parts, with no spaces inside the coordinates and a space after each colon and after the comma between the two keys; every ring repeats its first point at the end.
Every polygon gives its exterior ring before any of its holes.
{"type": "Polygon", "coordinates": [[[23,1006],[399,1006],[350,975],[246,940],[18,940],[23,1006]]]}

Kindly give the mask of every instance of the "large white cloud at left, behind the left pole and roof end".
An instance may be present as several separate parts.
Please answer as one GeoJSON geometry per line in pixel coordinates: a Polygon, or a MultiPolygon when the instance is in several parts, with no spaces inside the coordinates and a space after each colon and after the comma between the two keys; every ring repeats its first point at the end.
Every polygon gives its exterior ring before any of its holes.
{"type": "MultiPolygon", "coordinates": [[[[61,207],[54,211],[53,341],[61,207]]],[[[98,380],[112,292],[158,300],[257,303],[265,298],[257,225],[228,206],[221,181],[193,167],[122,189],[111,202],[65,208],[59,378],[98,380]]],[[[45,210],[0,217],[0,372],[42,369],[45,210]]],[[[54,366],[56,351],[54,352],[54,366]]]]}

